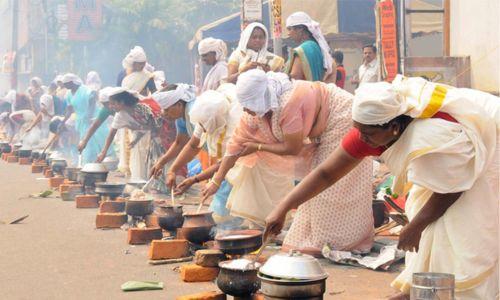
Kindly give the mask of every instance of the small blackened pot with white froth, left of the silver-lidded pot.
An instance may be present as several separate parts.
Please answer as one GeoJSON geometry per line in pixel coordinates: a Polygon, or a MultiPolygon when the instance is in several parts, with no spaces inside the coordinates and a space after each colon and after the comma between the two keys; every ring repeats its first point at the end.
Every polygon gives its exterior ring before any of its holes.
{"type": "Polygon", "coordinates": [[[254,269],[241,270],[227,268],[231,261],[219,263],[217,286],[225,294],[233,297],[246,297],[260,289],[260,279],[257,277],[258,266],[254,269]]]}

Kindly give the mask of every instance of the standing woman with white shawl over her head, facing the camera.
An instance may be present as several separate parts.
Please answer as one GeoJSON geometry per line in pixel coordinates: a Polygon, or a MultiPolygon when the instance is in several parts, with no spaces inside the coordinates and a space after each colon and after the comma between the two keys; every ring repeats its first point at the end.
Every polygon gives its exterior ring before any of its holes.
{"type": "Polygon", "coordinates": [[[261,23],[250,23],[241,32],[238,48],[229,57],[227,82],[236,83],[238,76],[252,69],[279,72],[283,58],[267,51],[269,34],[261,23]]]}

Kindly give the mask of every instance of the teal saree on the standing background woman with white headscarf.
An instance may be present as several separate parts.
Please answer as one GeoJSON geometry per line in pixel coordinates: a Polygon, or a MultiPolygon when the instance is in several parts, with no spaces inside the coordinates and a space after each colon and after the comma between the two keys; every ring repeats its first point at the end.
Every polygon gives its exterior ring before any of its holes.
{"type": "Polygon", "coordinates": [[[290,74],[294,60],[298,57],[302,62],[302,72],[307,81],[321,81],[325,76],[323,54],[318,43],[307,40],[300,46],[293,48],[287,63],[286,73],[290,74]]]}

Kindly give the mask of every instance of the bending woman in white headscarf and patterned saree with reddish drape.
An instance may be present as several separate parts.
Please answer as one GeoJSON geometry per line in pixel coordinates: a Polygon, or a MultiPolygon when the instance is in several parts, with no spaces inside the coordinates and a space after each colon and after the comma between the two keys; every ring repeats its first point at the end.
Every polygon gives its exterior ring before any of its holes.
{"type": "Polygon", "coordinates": [[[119,129],[134,133],[130,141],[130,171],[133,180],[144,180],[156,159],[173,142],[173,123],[164,122],[153,99],[141,99],[135,91],[116,88],[109,94],[109,106],[116,111],[106,145],[98,156],[101,162],[119,129]]]}

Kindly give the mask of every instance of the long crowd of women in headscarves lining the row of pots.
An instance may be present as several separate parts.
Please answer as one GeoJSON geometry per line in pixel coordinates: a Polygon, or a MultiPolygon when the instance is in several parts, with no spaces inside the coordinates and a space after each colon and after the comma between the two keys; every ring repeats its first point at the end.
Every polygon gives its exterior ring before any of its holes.
{"type": "Polygon", "coordinates": [[[457,296],[493,299],[498,291],[498,97],[398,75],[379,81],[377,49],[345,91],[343,53],[332,51],[304,12],[286,20],[296,43],[285,59],[269,34],[248,24],[227,58],[226,44],[198,45],[209,67],[199,86],[170,83],[134,47],[116,87],[89,72],[35,77],[26,94],[2,97],[1,126],[11,141],[55,147],[81,164],[114,158],[132,180],[158,180],[182,194],[203,183],[202,201],[219,224],[276,236],[283,250],[321,255],[372,247],[374,157],[408,195],[410,223],[399,248],[406,269],[393,282],[406,299],[415,272],[453,273],[457,296]],[[202,161],[188,175],[187,165],[202,161]],[[182,178],[181,181],[179,181],[182,178]],[[480,199],[480,201],[477,201],[480,199]],[[462,220],[467,220],[463,222],[462,220]],[[467,254],[467,255],[465,255],[467,254]]]}

